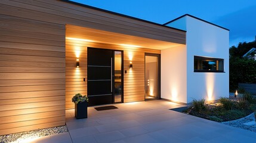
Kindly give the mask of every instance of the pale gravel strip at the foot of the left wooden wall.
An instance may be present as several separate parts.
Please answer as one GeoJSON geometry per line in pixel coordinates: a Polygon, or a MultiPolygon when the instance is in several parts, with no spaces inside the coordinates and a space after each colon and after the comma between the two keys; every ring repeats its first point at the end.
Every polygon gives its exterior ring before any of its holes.
{"type": "Polygon", "coordinates": [[[53,128],[47,128],[47,129],[30,130],[27,132],[13,133],[10,135],[2,135],[0,136],[0,143],[18,142],[24,138],[38,138],[42,136],[54,135],[57,133],[64,133],[64,132],[68,132],[67,126],[57,126],[53,128]]]}

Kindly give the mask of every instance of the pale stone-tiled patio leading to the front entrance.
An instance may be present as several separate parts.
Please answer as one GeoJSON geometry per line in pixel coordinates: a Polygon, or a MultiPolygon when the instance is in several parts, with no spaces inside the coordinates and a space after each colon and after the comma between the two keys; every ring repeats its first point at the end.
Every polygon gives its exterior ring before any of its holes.
{"type": "Polygon", "coordinates": [[[113,104],[118,109],[88,108],[88,119],[76,120],[66,110],[67,133],[33,142],[256,142],[256,133],[190,116],[164,100],[113,104]]]}

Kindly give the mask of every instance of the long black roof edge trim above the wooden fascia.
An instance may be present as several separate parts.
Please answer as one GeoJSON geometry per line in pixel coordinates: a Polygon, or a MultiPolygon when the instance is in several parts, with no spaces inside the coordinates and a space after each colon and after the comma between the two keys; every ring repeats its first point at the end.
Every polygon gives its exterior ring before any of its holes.
{"type": "Polygon", "coordinates": [[[155,24],[155,25],[157,25],[157,26],[166,27],[166,28],[168,28],[168,29],[174,29],[174,30],[178,30],[178,31],[182,31],[182,32],[187,32],[186,30],[181,30],[181,29],[177,29],[177,28],[174,28],[174,27],[165,26],[164,24],[154,23],[154,22],[152,22],[152,21],[143,20],[143,19],[136,18],[136,17],[132,17],[132,16],[129,16],[129,15],[125,15],[125,14],[121,14],[121,13],[115,13],[115,12],[113,12],[113,11],[104,10],[104,9],[97,8],[97,7],[92,7],[92,6],[90,6],[90,5],[81,4],[81,3],[79,3],[79,2],[74,2],[74,1],[69,1],[69,0],[59,0],[59,1],[67,2],[67,3],[69,3],[69,4],[79,5],[79,6],[81,6],[81,7],[91,8],[91,9],[93,9],[93,10],[98,10],[98,11],[102,11],[102,12],[109,13],[109,14],[115,14],[115,15],[119,15],[119,16],[122,16],[122,17],[131,18],[131,19],[138,20],[138,21],[142,21],[142,22],[145,22],[145,23],[155,24]]]}

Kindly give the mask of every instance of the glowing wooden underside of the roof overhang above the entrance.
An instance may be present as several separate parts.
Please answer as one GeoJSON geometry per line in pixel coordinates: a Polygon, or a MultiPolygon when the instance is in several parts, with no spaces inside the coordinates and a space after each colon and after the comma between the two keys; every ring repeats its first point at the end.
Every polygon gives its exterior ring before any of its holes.
{"type": "Polygon", "coordinates": [[[73,26],[70,24],[66,25],[66,39],[159,50],[183,45],[180,43],[159,41],[156,39],[141,38],[138,36],[91,29],[88,27],[73,26]]]}

